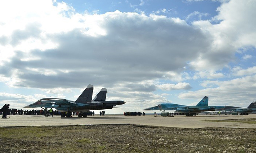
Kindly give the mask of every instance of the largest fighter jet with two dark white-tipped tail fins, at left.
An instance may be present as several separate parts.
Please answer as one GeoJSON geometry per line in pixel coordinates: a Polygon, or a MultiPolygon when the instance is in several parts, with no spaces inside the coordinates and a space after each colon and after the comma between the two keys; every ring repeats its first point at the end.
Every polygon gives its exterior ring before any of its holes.
{"type": "Polygon", "coordinates": [[[93,99],[95,101],[92,101],[92,92],[93,85],[89,84],[76,101],[61,98],[42,98],[24,108],[55,108],[57,111],[61,112],[61,117],[70,117],[71,112],[79,112],[78,117],[86,117],[86,112],[89,112],[89,110],[112,109],[113,106],[125,104],[122,100],[105,101],[107,93],[106,88],[102,88],[93,99]]]}

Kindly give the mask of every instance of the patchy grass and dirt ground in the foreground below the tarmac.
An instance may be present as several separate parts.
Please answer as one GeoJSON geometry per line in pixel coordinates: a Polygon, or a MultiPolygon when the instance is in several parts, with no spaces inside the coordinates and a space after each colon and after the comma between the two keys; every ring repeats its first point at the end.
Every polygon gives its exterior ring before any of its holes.
{"type": "Polygon", "coordinates": [[[0,128],[1,152],[256,152],[256,130],[83,125],[0,128]]]}

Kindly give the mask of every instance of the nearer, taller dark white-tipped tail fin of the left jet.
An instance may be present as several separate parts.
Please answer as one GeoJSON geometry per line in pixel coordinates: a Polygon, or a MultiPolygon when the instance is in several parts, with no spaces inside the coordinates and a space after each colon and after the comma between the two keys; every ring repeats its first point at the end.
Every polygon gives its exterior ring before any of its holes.
{"type": "Polygon", "coordinates": [[[77,103],[91,103],[92,102],[93,85],[89,84],[84,92],[76,99],[77,103]]]}

